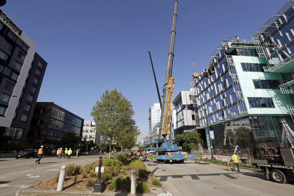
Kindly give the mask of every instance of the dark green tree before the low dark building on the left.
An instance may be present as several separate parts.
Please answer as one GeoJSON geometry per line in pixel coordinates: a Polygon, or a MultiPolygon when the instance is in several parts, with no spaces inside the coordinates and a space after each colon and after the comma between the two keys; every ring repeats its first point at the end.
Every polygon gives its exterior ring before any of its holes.
{"type": "Polygon", "coordinates": [[[72,151],[75,150],[75,147],[77,144],[81,143],[82,138],[80,136],[78,136],[77,134],[73,133],[73,132],[65,132],[61,138],[60,141],[57,143],[56,148],[67,148],[67,149],[72,149],[72,151]]]}

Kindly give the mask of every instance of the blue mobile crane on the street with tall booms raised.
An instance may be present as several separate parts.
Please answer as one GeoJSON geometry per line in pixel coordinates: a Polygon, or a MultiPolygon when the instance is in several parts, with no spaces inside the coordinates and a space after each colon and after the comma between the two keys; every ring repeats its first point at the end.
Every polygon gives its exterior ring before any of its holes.
{"type": "MultiPolygon", "coordinates": [[[[182,149],[181,146],[177,146],[173,144],[172,141],[172,131],[171,131],[171,107],[172,107],[172,98],[173,98],[173,88],[175,84],[175,78],[171,76],[172,74],[172,63],[174,58],[174,47],[175,47],[175,26],[177,20],[177,10],[178,10],[178,0],[175,0],[175,9],[173,14],[173,22],[172,22],[172,31],[171,31],[171,42],[168,53],[168,66],[165,77],[165,84],[163,86],[163,101],[160,104],[161,107],[161,115],[160,115],[160,125],[159,125],[159,134],[158,139],[150,140],[150,148],[145,148],[145,151],[154,151],[156,154],[148,157],[151,160],[163,160],[165,163],[171,163],[173,161],[178,161],[183,163],[187,158],[197,158],[197,154],[187,154],[185,152],[179,152],[182,149]],[[152,147],[155,145],[155,147],[152,147]]],[[[152,68],[153,63],[151,59],[151,55],[149,52],[152,68]]],[[[153,68],[154,79],[157,87],[159,101],[160,93],[158,90],[158,85],[156,81],[156,76],[153,68]]]]}

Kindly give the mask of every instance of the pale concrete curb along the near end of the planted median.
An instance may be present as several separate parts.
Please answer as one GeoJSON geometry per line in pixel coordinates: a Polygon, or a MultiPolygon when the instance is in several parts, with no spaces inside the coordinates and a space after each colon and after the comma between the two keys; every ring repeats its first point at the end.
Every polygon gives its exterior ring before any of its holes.
{"type": "MultiPolygon", "coordinates": [[[[78,190],[62,190],[56,191],[52,189],[25,189],[17,191],[15,196],[33,196],[33,195],[50,195],[50,196],[92,196],[92,195],[105,195],[105,196],[126,196],[131,195],[130,193],[117,193],[117,192],[103,192],[103,193],[92,193],[92,191],[78,191],[78,190]]],[[[137,193],[138,196],[158,196],[157,193],[137,193]]]]}

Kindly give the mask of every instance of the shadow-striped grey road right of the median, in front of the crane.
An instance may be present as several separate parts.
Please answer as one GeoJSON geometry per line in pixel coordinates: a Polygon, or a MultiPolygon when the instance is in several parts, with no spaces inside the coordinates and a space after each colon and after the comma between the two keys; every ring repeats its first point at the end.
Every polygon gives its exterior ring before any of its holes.
{"type": "Polygon", "coordinates": [[[184,164],[155,163],[157,166],[147,168],[173,196],[293,195],[294,180],[288,184],[274,183],[263,172],[242,169],[239,173],[224,170],[225,165],[200,165],[190,160],[184,164]]]}

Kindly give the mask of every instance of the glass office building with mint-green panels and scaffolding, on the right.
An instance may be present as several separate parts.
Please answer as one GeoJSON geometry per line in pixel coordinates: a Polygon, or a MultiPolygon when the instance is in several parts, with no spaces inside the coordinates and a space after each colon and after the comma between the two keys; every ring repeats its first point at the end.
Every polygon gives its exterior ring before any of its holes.
{"type": "Polygon", "coordinates": [[[282,146],[287,141],[283,126],[293,128],[294,111],[293,6],[288,1],[252,40],[235,36],[222,41],[209,67],[191,80],[197,128],[205,129],[208,149],[207,123],[216,149],[282,146]]]}

